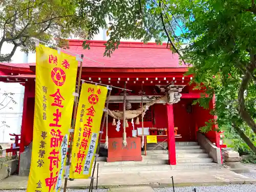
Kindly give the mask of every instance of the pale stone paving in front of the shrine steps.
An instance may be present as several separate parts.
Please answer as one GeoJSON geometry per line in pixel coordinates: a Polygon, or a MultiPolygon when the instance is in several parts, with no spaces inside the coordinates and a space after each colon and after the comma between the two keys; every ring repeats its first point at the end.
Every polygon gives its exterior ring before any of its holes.
{"type": "MultiPolygon", "coordinates": [[[[256,180],[231,172],[226,168],[212,170],[170,170],[139,173],[100,174],[98,186],[110,188],[113,186],[148,185],[152,187],[171,186],[172,179],[176,186],[201,186],[225,184],[255,184],[256,180]]],[[[11,176],[0,182],[0,189],[25,189],[28,177],[11,176]]],[[[94,182],[96,185],[96,180],[94,182]]],[[[90,179],[75,179],[68,181],[69,188],[87,188],[90,179]]]]}

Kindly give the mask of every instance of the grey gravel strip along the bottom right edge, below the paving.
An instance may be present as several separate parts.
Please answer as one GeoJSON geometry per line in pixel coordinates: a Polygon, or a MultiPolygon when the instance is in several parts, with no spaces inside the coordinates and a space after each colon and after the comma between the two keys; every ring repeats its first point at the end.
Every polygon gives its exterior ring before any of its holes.
{"type": "MultiPolygon", "coordinates": [[[[201,186],[201,187],[175,187],[175,192],[255,192],[256,185],[226,185],[226,186],[201,186]]],[[[173,192],[173,188],[155,188],[154,192],[173,192]]]]}

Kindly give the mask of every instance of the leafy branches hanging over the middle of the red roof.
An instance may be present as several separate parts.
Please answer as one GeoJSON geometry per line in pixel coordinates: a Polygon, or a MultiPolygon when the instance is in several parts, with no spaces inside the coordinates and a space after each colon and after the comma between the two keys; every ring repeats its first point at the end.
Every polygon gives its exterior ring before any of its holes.
{"type": "MultiPolygon", "coordinates": [[[[99,28],[108,29],[110,38],[105,44],[105,56],[111,56],[121,38],[133,38],[143,42],[154,39],[157,44],[168,41],[172,45],[171,49],[182,58],[179,52],[180,41],[175,35],[181,26],[176,18],[172,19],[172,14],[167,11],[168,4],[164,2],[166,4],[161,7],[161,2],[155,0],[82,1],[79,3],[79,12],[82,16],[93,17],[88,26],[88,39],[92,39],[99,28]]],[[[90,45],[84,41],[83,46],[87,49],[90,45]]]]}

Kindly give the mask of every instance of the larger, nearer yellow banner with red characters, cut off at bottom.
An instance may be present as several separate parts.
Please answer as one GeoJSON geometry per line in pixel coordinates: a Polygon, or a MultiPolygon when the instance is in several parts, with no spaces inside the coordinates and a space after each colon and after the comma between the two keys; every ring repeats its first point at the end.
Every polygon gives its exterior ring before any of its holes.
{"type": "Polygon", "coordinates": [[[35,114],[27,191],[59,191],[65,172],[78,62],[36,47],[35,114]]]}

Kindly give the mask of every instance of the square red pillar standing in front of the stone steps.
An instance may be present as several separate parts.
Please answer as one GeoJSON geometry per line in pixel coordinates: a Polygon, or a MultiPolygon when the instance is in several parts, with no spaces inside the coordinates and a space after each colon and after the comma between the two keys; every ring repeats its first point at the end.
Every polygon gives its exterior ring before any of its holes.
{"type": "Polygon", "coordinates": [[[167,107],[167,144],[168,144],[168,164],[176,165],[176,147],[175,147],[175,135],[174,135],[174,109],[173,104],[166,104],[167,107]]]}

